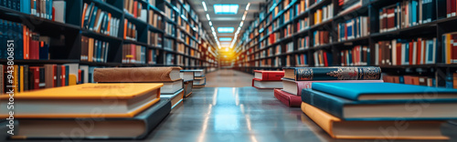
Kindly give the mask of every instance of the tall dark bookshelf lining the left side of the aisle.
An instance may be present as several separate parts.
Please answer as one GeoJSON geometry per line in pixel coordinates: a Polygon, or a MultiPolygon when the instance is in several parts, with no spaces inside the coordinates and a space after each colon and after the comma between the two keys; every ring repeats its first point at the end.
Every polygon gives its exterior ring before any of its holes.
{"type": "MultiPolygon", "coordinates": [[[[66,11],[65,11],[65,21],[66,23],[59,23],[48,19],[43,19],[35,15],[28,15],[4,6],[0,6],[0,15],[1,19],[21,23],[27,25],[34,32],[39,33],[40,35],[50,36],[51,44],[49,45],[49,58],[48,60],[16,60],[15,62],[21,65],[43,65],[43,64],[67,64],[67,63],[77,63],[80,65],[88,66],[178,66],[178,62],[185,63],[184,60],[188,60],[186,64],[181,64],[185,69],[209,69],[214,70],[218,67],[217,56],[208,56],[210,53],[207,52],[207,48],[212,48],[212,50],[218,50],[212,44],[209,44],[207,39],[207,32],[202,26],[199,25],[198,15],[195,9],[190,6],[189,9],[184,9],[183,6],[180,6],[182,9],[176,8],[175,5],[189,5],[190,3],[187,0],[180,2],[179,0],[172,0],[171,3],[166,2],[165,0],[155,0],[155,5],[151,5],[148,0],[137,0],[139,5],[143,6],[143,9],[146,10],[146,18],[149,18],[149,11],[154,11],[154,14],[161,16],[162,20],[159,21],[162,27],[157,27],[154,25],[148,24],[148,20],[143,21],[140,18],[134,17],[126,10],[124,10],[124,1],[122,0],[65,0],[66,1],[66,11]],[[120,19],[120,25],[118,27],[118,35],[104,35],[100,33],[93,32],[91,30],[81,27],[81,18],[84,17],[83,6],[84,4],[94,4],[102,11],[110,13],[112,17],[120,19]],[[167,17],[165,15],[165,6],[171,7],[175,11],[177,16],[167,17]],[[181,15],[180,11],[185,10],[186,15],[181,15]],[[191,16],[192,15],[192,16],[191,16]],[[186,27],[182,27],[176,23],[177,18],[180,17],[186,25],[189,25],[190,31],[186,30],[186,27]],[[189,17],[189,18],[186,18],[189,17]],[[124,39],[123,38],[123,25],[124,19],[131,22],[136,26],[137,39],[124,39]],[[188,37],[190,41],[196,43],[191,46],[186,43],[186,41],[180,41],[173,35],[167,35],[165,32],[165,23],[174,25],[175,32],[180,31],[181,34],[184,34],[188,37]],[[152,33],[157,33],[162,37],[161,46],[151,46],[148,45],[148,31],[152,33]],[[81,37],[87,36],[94,38],[96,40],[102,40],[109,43],[108,59],[106,63],[97,63],[97,62],[87,62],[81,61],[81,37]],[[63,38],[62,38],[63,37],[63,38]],[[167,51],[164,48],[165,38],[172,38],[174,40],[174,45],[181,42],[186,45],[186,48],[189,48],[186,51],[191,51],[188,53],[178,53],[175,49],[167,51]],[[59,40],[54,42],[54,40],[59,40]],[[53,44],[58,43],[58,44],[53,44]],[[156,64],[147,64],[145,62],[138,64],[122,64],[122,45],[124,44],[133,44],[137,46],[145,46],[146,51],[150,49],[157,50],[156,64]],[[199,48],[200,45],[205,44],[205,50],[199,48]],[[171,54],[174,56],[175,60],[173,63],[165,63],[165,53],[171,54]],[[182,56],[180,59],[183,61],[177,61],[176,56],[182,56]],[[208,60],[211,60],[210,62],[208,60]]],[[[208,38],[210,40],[211,38],[208,38]]],[[[214,42],[213,42],[214,43],[214,42]]],[[[5,59],[0,59],[0,63],[4,64],[5,59]]],[[[207,70],[209,71],[209,70],[207,70]]]]}

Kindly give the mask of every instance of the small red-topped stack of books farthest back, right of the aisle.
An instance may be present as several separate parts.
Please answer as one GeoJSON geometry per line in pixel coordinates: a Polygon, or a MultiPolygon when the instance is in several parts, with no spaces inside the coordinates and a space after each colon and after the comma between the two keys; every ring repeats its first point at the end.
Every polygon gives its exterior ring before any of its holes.
{"type": "Polygon", "coordinates": [[[252,86],[256,88],[282,88],[284,71],[254,70],[252,86]]]}

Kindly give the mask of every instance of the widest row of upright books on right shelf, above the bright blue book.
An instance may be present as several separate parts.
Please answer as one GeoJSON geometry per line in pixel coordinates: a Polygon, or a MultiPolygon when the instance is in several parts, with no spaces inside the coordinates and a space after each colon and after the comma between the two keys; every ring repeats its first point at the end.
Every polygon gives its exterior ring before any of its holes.
{"type": "Polygon", "coordinates": [[[375,65],[410,66],[436,63],[436,38],[394,39],[375,45],[375,65]]]}

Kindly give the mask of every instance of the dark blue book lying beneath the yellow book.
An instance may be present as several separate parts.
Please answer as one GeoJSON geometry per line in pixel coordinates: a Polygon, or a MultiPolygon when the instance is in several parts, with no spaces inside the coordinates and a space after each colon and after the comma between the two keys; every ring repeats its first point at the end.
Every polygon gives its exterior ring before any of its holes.
{"type": "MultiPolygon", "coordinates": [[[[20,129],[14,139],[83,138],[83,139],[143,139],[158,126],[171,111],[169,100],[160,100],[134,117],[33,118],[19,119],[20,129]],[[90,133],[74,136],[75,127],[90,122],[90,133]]],[[[93,115],[92,115],[93,116],[93,115]]],[[[98,117],[95,115],[95,117],[98,117]]]]}

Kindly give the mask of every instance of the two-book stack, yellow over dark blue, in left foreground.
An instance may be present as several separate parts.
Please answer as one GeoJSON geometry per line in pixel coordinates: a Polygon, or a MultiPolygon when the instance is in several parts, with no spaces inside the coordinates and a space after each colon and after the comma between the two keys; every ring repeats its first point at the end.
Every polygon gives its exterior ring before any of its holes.
{"type": "MultiPolygon", "coordinates": [[[[15,127],[14,139],[141,139],[171,111],[162,84],[83,84],[0,96],[0,117],[15,127]],[[56,107],[58,106],[58,107],[56,107]],[[14,107],[14,116],[13,108],[14,107]],[[8,118],[13,118],[11,121],[8,118]],[[17,121],[17,122],[16,122],[17,121]],[[90,133],[73,135],[90,124],[90,133]]],[[[3,124],[3,123],[1,123],[3,124]]],[[[4,126],[5,127],[5,126],[4,126]]],[[[6,133],[6,132],[5,132],[6,133]]],[[[2,136],[0,136],[1,138],[2,136]]]]}

